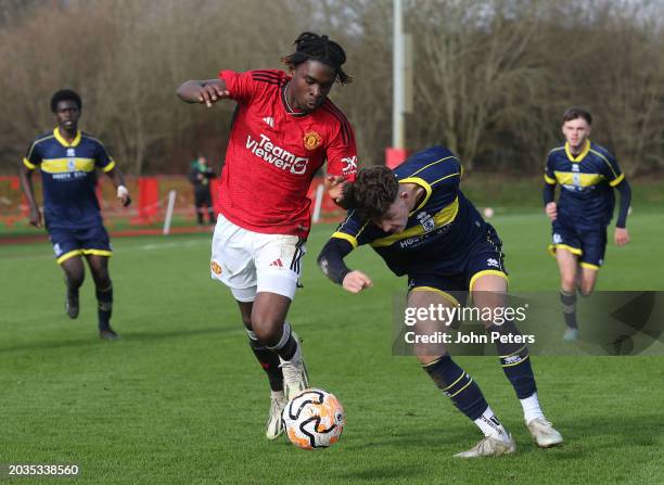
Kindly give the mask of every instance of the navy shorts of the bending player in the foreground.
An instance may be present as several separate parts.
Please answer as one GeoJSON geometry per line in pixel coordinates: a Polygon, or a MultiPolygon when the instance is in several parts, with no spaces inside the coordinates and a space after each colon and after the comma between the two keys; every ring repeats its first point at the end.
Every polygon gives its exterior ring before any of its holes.
{"type": "Polygon", "coordinates": [[[486,227],[484,238],[478,238],[468,251],[458,252],[455,257],[442,255],[440,261],[432,261],[431,270],[408,275],[408,290],[434,291],[452,304],[463,305],[477,278],[496,275],[508,280],[502,241],[493,226],[486,227]]]}

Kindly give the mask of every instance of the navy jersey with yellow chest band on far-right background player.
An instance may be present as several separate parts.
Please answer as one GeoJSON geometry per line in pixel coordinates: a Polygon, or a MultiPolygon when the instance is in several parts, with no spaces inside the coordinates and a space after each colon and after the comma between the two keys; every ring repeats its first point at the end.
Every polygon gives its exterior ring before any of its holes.
{"type": "Polygon", "coordinates": [[[558,213],[562,224],[578,229],[606,226],[613,217],[613,188],[625,175],[615,157],[604,148],[586,140],[586,146],[574,156],[565,143],[549,152],[545,181],[561,186],[558,213]]]}

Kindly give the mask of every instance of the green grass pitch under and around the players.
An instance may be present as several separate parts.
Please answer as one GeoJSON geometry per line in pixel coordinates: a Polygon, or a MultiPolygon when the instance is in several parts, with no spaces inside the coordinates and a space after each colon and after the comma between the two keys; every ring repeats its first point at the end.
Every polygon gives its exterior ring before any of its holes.
{"type": "MultiPolygon", "coordinates": [[[[556,290],[544,216],[491,221],[512,288],[556,290]]],[[[664,290],[663,222],[655,212],[631,217],[633,242],[610,243],[598,289],[664,290]]],[[[290,320],[312,384],[345,406],[333,448],[265,439],[267,380],[234,302],[209,279],[210,238],[200,234],[113,241],[113,322],[123,335],[113,343],[97,337],[89,275],[71,321],[49,244],[0,247],[0,464],[77,463],[78,481],[95,484],[664,483],[662,357],[534,358],[545,412],[565,438],[549,450],[531,443],[496,360],[461,357],[519,451],[451,458],[481,436],[414,358],[391,355],[391,301],[405,281],[361,248],[350,265],[375,286],[350,295],[332,285],[315,265],[331,232],[311,234],[290,320]]]]}

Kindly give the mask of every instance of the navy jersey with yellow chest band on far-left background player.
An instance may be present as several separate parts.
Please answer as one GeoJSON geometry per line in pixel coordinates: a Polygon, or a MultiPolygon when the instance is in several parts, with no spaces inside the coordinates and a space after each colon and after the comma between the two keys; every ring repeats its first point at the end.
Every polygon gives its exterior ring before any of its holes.
{"type": "Polygon", "coordinates": [[[115,162],[99,140],[78,131],[67,143],[55,128],[33,141],[23,163],[30,170],[41,171],[47,228],[101,224],[95,168],[110,171],[115,162]]]}

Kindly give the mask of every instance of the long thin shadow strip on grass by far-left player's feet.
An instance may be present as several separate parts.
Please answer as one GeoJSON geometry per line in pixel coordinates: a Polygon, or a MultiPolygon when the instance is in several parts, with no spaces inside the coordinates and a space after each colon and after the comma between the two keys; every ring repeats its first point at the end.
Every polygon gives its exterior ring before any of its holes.
{"type": "Polygon", "coordinates": [[[191,330],[177,330],[169,332],[142,332],[142,331],[118,331],[120,333],[122,339],[115,342],[102,341],[94,333],[90,334],[89,337],[79,337],[75,340],[66,340],[66,341],[35,341],[35,342],[26,342],[22,344],[12,345],[0,345],[0,354],[10,353],[10,352],[23,352],[23,350],[39,350],[39,349],[63,349],[63,348],[81,348],[81,347],[92,347],[95,345],[124,345],[131,344],[132,342],[157,342],[165,341],[169,339],[182,339],[188,336],[196,336],[196,335],[209,335],[209,334],[227,334],[227,333],[237,333],[241,331],[240,328],[222,328],[222,327],[210,327],[204,329],[191,329],[191,330]]]}

